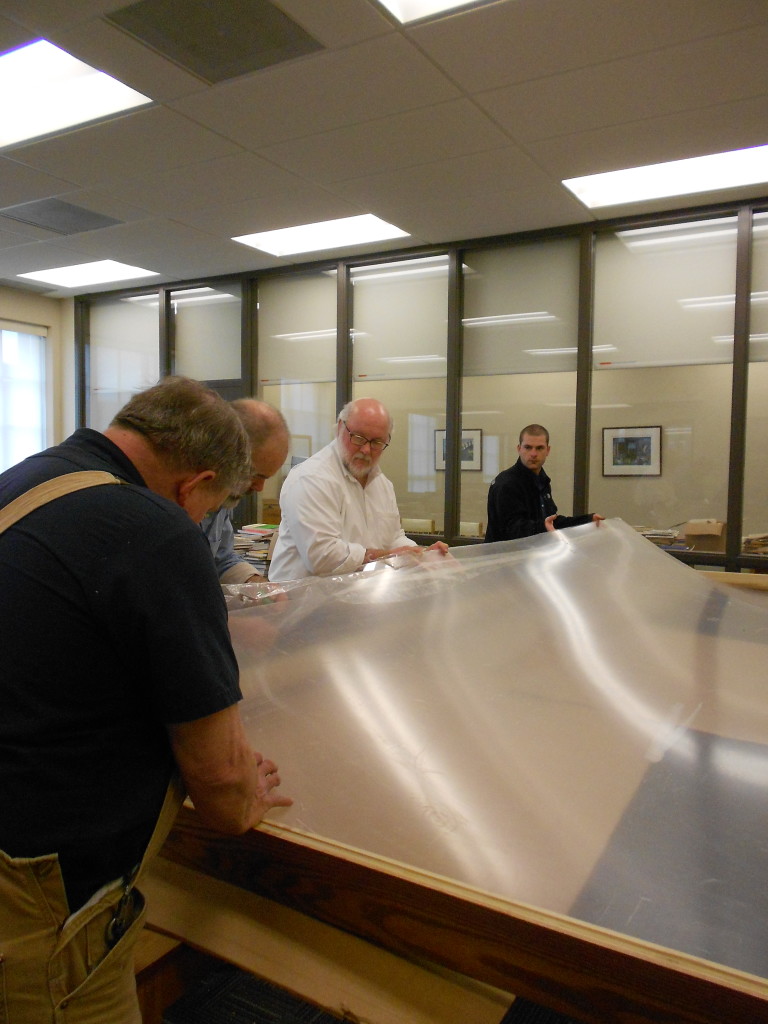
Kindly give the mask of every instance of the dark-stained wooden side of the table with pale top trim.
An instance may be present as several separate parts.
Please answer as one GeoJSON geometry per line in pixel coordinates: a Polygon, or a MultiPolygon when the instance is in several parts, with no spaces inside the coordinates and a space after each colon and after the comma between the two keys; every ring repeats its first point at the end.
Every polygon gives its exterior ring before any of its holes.
{"type": "Polygon", "coordinates": [[[768,1015],[759,978],[280,825],[225,838],[183,808],[162,856],[591,1024],[768,1015]]]}

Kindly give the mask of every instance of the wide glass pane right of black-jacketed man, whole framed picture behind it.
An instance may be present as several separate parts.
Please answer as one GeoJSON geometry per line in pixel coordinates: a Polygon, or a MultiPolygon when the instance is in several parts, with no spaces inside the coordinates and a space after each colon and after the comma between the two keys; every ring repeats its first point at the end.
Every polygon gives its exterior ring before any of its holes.
{"type": "Polygon", "coordinates": [[[732,217],[597,241],[590,508],[693,550],[725,547],[735,268],[732,217]]]}

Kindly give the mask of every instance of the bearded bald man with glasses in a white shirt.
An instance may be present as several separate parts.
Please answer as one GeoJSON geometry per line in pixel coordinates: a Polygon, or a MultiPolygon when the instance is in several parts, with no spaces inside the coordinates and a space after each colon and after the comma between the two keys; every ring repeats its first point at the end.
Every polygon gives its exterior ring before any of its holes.
{"type": "MultiPolygon", "coordinates": [[[[424,551],[406,537],[394,487],[379,468],[391,438],[392,418],[380,401],[347,402],[334,440],[286,477],[270,580],[338,575],[386,555],[424,551]]],[[[447,546],[438,541],[427,550],[444,553],[447,546]]]]}

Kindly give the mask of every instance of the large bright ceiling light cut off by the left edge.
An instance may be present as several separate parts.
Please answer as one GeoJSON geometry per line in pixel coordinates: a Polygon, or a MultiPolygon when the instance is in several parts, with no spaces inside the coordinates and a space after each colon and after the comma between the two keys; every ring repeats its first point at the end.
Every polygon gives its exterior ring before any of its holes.
{"type": "Polygon", "coordinates": [[[44,39],[0,56],[0,146],[152,102],[44,39]]]}

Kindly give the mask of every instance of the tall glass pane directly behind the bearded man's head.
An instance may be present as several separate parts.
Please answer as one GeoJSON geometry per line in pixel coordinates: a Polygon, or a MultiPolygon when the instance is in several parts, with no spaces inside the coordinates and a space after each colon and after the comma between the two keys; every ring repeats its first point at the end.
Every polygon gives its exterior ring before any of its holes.
{"type": "Polygon", "coordinates": [[[382,469],[403,526],[440,532],[445,496],[440,465],[447,361],[446,256],[352,269],[352,394],[384,402],[394,418],[382,469]],[[437,458],[436,458],[437,456],[437,458]]]}

